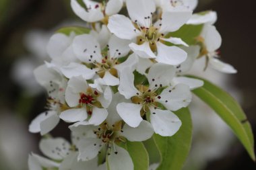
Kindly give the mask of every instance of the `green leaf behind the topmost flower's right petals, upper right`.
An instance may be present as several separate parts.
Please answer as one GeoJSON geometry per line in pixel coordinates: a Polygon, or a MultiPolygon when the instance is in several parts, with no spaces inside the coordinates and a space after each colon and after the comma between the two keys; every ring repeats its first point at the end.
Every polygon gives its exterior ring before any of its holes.
{"type": "MultiPolygon", "coordinates": [[[[177,37],[181,38],[184,42],[189,45],[195,45],[197,36],[201,34],[203,29],[203,24],[201,25],[184,25],[176,32],[170,32],[166,35],[166,38],[177,37]]],[[[170,42],[166,42],[167,45],[170,45],[170,42]]]]}

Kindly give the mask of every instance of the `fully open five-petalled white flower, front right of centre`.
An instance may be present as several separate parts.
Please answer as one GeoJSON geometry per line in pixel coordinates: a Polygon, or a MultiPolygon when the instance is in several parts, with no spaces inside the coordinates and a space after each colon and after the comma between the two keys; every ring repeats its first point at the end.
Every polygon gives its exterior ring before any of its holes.
{"type": "Polygon", "coordinates": [[[117,112],[131,127],[137,127],[141,116],[150,113],[150,122],[157,134],[172,136],[180,126],[181,120],[171,111],[187,107],[191,101],[191,92],[187,85],[170,85],[175,75],[174,67],[157,63],[147,75],[149,86],[134,87],[134,75],[128,69],[120,77],[119,92],[132,103],[122,102],[117,105],[117,112]],[[160,104],[167,110],[162,110],[160,104]]]}

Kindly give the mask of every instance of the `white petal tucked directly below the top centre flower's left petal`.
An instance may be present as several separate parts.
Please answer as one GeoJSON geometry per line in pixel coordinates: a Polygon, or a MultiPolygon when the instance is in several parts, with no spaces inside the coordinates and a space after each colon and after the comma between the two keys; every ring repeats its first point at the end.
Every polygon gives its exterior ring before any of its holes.
{"type": "Polygon", "coordinates": [[[130,51],[130,48],[128,46],[130,42],[130,40],[123,40],[115,35],[111,36],[108,42],[110,57],[119,58],[122,56],[126,56],[130,51]]]}

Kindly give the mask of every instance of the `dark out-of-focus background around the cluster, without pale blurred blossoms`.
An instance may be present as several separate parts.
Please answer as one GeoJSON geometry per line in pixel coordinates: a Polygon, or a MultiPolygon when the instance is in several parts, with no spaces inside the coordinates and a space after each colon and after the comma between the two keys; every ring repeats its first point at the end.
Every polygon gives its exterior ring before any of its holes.
{"type": "MultiPolygon", "coordinates": [[[[222,56],[238,73],[232,75],[243,95],[243,108],[256,134],[256,1],[216,0],[206,3],[199,0],[196,11],[212,9],[218,13],[216,27],[222,35],[222,56]]],[[[24,34],[40,28],[51,30],[67,19],[77,19],[69,7],[69,0],[0,0],[0,108],[20,113],[20,118],[30,122],[44,110],[45,95],[24,96],[21,87],[11,77],[13,62],[28,53],[24,34]],[[20,100],[32,102],[32,107],[20,108],[20,100]]],[[[80,20],[79,20],[80,21],[80,20]]],[[[1,116],[1,115],[0,115],[1,116]]],[[[59,127],[59,126],[58,126],[59,127]]],[[[60,126],[61,127],[61,126],[60,126]]],[[[61,134],[62,128],[53,131],[61,134]]],[[[63,132],[62,132],[63,134],[63,132]]],[[[68,137],[68,134],[63,134],[68,137]]],[[[39,138],[39,135],[35,135],[39,138]]],[[[256,136],[256,135],[255,135],[256,136]]],[[[256,169],[243,146],[236,140],[228,153],[207,164],[206,170],[256,169]]]]}

